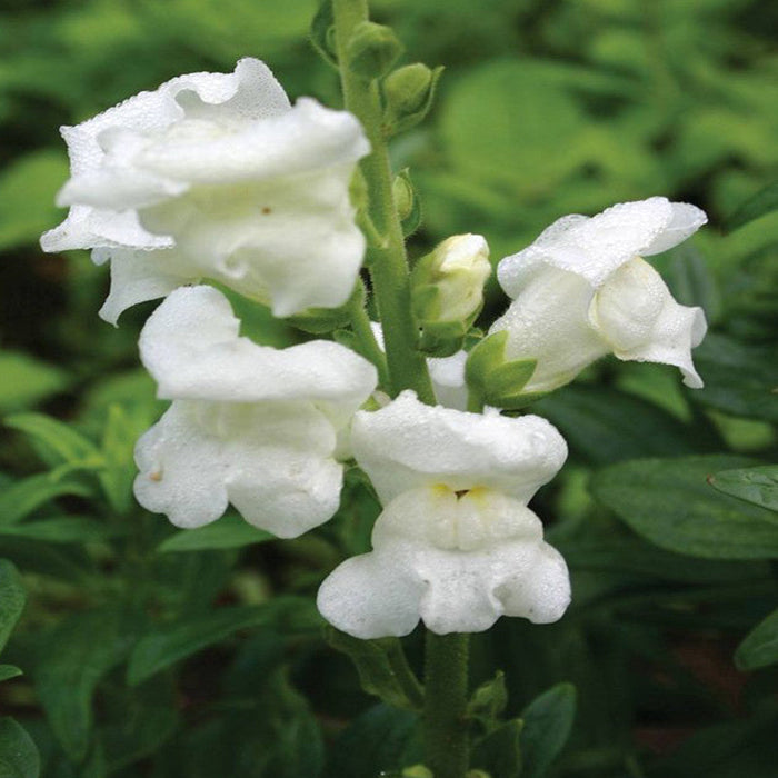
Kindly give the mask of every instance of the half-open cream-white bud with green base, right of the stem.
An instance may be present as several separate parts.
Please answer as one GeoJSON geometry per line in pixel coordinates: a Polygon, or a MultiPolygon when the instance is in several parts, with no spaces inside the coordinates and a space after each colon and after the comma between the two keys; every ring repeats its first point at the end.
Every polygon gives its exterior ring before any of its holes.
{"type": "Polygon", "coordinates": [[[480,235],[456,235],[422,257],[411,273],[411,305],[422,330],[420,349],[447,357],[483,306],[491,273],[489,247],[480,235]]]}

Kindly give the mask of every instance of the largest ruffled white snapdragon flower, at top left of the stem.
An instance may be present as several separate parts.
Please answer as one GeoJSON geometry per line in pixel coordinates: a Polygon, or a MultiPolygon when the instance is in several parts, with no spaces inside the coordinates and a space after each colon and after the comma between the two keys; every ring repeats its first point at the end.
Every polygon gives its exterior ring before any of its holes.
{"type": "Polygon", "coordinates": [[[279,317],[351,293],[365,238],[349,182],[369,143],[351,113],[290,106],[259,60],[180,76],[62,134],[71,208],[41,245],[111,261],[103,319],[201,278],[279,317]]]}

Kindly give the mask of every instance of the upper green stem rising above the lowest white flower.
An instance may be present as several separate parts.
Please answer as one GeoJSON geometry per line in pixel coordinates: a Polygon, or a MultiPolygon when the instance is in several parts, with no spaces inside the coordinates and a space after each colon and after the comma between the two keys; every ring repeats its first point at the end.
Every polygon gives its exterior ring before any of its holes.
{"type": "Polygon", "coordinates": [[[435,392],[423,356],[417,351],[418,333],[410,316],[410,285],[402,226],[395,207],[389,150],[381,127],[378,84],[365,81],[346,67],[347,47],[355,28],[368,20],[367,0],[333,0],[336,44],[346,108],[365,128],[371,152],[362,160],[370,218],[382,237],[372,247],[370,278],[383,327],[391,395],[416,390],[422,402],[435,405],[435,392]]]}

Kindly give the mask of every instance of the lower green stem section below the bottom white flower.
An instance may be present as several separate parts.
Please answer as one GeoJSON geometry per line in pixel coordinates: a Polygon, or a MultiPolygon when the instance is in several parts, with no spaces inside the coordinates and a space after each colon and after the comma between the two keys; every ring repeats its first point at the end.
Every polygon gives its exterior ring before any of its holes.
{"type": "Polygon", "coordinates": [[[468,635],[427,632],[425,766],[435,778],[465,778],[469,742],[468,635]]]}

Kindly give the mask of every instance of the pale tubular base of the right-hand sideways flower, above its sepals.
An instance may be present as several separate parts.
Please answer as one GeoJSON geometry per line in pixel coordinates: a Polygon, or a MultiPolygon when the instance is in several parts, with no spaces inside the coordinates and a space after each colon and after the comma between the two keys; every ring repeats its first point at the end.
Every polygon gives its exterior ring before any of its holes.
{"type": "Polygon", "coordinates": [[[537,359],[523,388],[551,391],[572,380],[585,367],[610,351],[589,325],[595,289],[580,276],[541,266],[489,329],[506,330],[506,358],[537,359]]]}

